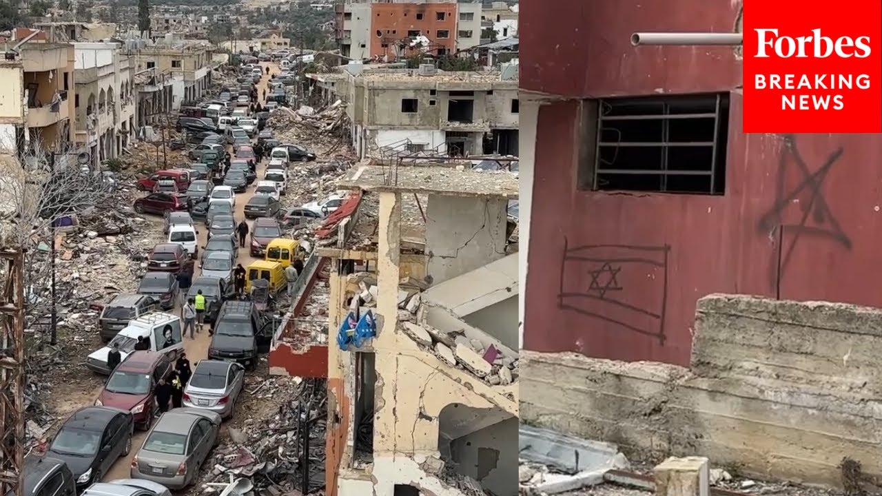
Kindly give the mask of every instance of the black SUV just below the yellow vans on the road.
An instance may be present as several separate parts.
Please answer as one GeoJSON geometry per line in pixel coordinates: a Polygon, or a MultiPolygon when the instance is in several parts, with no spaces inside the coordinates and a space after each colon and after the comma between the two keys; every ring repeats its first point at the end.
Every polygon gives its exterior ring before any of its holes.
{"type": "Polygon", "coordinates": [[[269,352],[273,321],[261,319],[251,302],[230,300],[221,306],[211,333],[209,360],[235,360],[253,370],[258,353],[269,352]]]}

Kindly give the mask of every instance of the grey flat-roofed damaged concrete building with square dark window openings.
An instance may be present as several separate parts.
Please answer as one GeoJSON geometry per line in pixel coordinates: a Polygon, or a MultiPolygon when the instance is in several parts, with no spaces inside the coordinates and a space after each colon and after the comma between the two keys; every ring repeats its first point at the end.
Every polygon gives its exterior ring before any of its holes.
{"type": "Polygon", "coordinates": [[[518,154],[518,70],[439,71],[348,64],[333,86],[347,102],[351,139],[360,158],[380,148],[451,156],[518,154]]]}

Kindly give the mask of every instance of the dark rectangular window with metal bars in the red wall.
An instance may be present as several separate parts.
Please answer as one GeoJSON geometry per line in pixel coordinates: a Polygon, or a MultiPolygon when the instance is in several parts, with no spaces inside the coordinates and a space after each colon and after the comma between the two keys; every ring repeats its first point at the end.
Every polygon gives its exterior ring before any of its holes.
{"type": "Polygon", "coordinates": [[[592,189],[725,192],[729,94],[604,99],[594,108],[592,189]]]}

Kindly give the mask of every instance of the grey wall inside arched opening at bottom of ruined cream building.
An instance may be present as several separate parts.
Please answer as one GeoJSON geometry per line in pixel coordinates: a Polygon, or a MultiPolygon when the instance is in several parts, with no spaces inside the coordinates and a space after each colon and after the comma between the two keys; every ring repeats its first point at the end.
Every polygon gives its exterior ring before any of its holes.
{"type": "Polygon", "coordinates": [[[510,417],[450,443],[460,474],[474,478],[497,496],[518,495],[518,424],[510,417]]]}

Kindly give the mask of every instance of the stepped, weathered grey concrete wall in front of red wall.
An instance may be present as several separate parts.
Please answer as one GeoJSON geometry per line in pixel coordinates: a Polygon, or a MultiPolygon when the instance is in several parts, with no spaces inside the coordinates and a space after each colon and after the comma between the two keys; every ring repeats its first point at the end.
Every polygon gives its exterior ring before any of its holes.
{"type": "Polygon", "coordinates": [[[844,457],[882,475],[880,351],[878,309],[710,295],[691,370],[522,350],[520,414],[632,457],[839,486],[844,457]]]}

